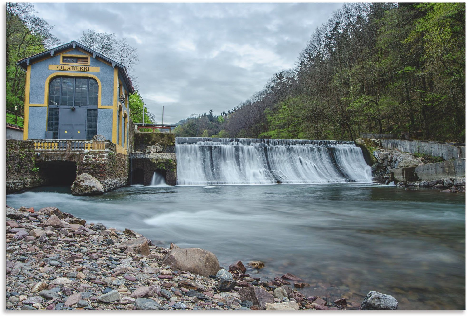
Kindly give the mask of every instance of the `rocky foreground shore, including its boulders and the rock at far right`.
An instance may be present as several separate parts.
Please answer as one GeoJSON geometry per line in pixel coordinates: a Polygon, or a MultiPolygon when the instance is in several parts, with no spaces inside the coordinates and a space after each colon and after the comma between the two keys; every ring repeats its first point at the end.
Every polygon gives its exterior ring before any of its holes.
{"type": "MultiPolygon", "coordinates": [[[[6,212],[7,310],[353,309],[344,298],[305,297],[296,288],[307,283],[290,273],[263,281],[245,274],[241,261],[223,269],[210,251],[157,247],[135,231],[55,207],[6,212]]],[[[359,309],[397,306],[371,291],[359,309]]]]}

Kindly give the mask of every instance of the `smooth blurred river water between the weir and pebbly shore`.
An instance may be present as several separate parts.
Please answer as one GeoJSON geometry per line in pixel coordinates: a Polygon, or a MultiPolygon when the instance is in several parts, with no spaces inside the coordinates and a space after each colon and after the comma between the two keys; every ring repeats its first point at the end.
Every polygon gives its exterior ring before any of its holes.
{"type": "Polygon", "coordinates": [[[57,206],[154,244],[204,248],[225,267],[262,260],[263,278],[293,273],[311,285],[305,294],[355,306],[376,290],[399,309],[465,307],[464,194],[358,183],[41,192],[51,189],[7,195],[7,204],[57,206]]]}

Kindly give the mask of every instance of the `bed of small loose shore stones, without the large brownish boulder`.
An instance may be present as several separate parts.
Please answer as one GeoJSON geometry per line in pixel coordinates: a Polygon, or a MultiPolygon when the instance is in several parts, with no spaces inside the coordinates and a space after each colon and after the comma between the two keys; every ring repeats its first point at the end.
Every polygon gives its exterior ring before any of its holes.
{"type": "MultiPolygon", "coordinates": [[[[169,249],[153,245],[148,256],[125,253],[120,244],[141,237],[138,233],[90,225],[58,209],[55,215],[34,214],[18,222],[7,219],[7,309],[249,310],[264,308],[241,301],[241,288],[257,286],[273,294],[271,284],[244,274],[240,261],[241,272],[220,269],[216,278],[205,278],[162,265],[169,249]]],[[[289,300],[286,290],[274,288],[277,300],[289,300]]],[[[288,291],[302,298],[294,288],[288,291]]]]}

